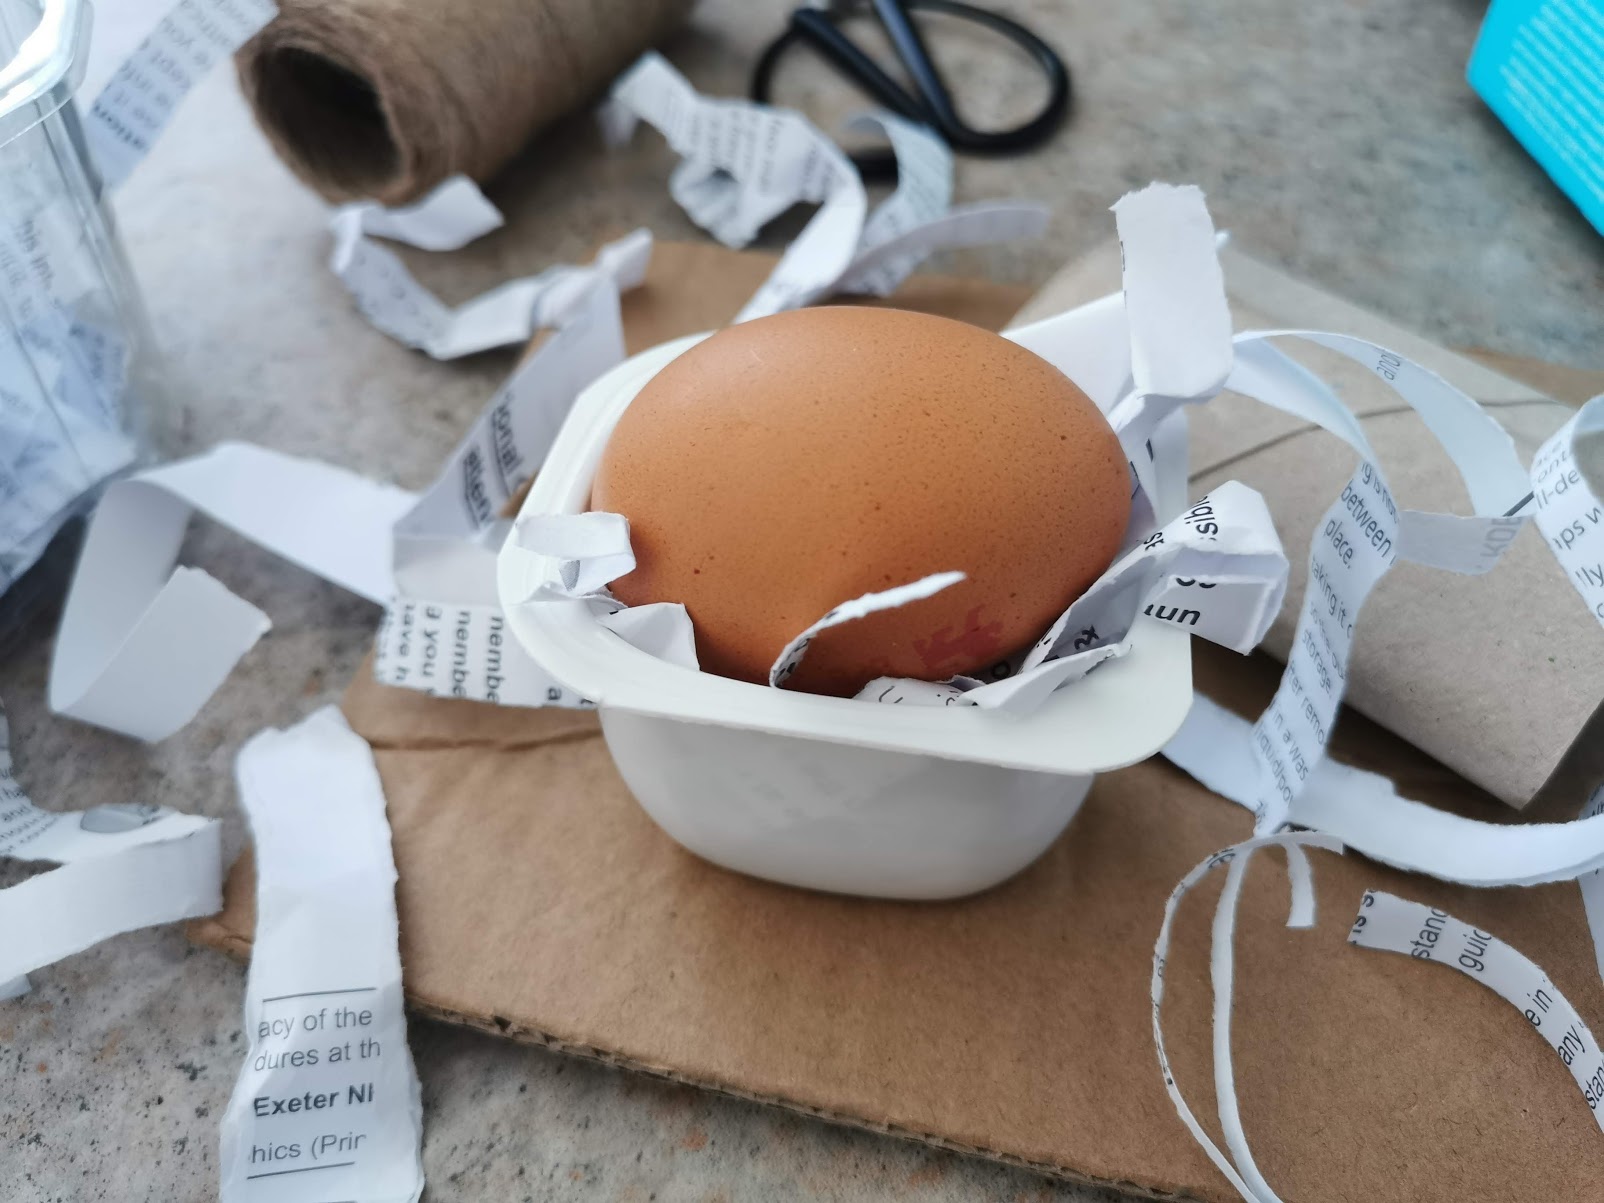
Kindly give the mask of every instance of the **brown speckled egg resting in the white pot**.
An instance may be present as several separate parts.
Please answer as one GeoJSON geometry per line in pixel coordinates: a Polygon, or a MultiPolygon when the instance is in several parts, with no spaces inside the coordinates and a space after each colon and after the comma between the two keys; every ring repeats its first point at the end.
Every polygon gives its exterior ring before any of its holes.
{"type": "Polygon", "coordinates": [[[767,682],[840,602],[959,569],[820,634],[788,688],[942,680],[1027,648],[1108,566],[1126,457],[1062,372],[975,326],[826,306],[722,330],[664,367],[602,456],[630,523],[627,605],[682,602],[707,672],[767,682]]]}

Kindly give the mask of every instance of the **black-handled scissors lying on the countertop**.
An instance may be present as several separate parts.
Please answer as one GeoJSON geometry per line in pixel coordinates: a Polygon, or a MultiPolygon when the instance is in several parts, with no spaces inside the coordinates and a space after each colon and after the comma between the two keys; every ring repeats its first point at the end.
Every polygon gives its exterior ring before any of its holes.
{"type": "MultiPolygon", "coordinates": [[[[776,37],[752,71],[752,99],[767,104],[775,67],[781,55],[796,43],[810,43],[842,75],[858,83],[876,101],[908,120],[935,130],[954,151],[970,154],[1019,154],[1044,143],[1063,122],[1070,109],[1070,69],[1057,51],[1017,21],[986,8],[959,0],[869,0],[869,6],[885,27],[897,56],[913,79],[909,91],[849,38],[837,21],[861,11],[860,0],[832,0],[823,6],[802,6],[791,14],[791,24],[776,37]],[[913,21],[913,11],[924,10],[970,21],[1014,42],[1030,55],[1047,79],[1047,103],[1030,120],[1011,130],[977,130],[958,115],[953,95],[935,69],[924,35],[913,21]]],[[[865,180],[895,175],[895,159],[889,151],[853,156],[865,180]],[[889,168],[889,170],[887,170],[889,168]]]]}

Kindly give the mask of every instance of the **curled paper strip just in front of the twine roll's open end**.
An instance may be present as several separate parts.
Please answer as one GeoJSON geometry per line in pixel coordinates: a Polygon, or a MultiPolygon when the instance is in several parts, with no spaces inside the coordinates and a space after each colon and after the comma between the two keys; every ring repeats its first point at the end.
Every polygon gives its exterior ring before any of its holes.
{"type": "MultiPolygon", "coordinates": [[[[387,237],[422,250],[456,250],[500,228],[500,210],[467,176],[452,176],[406,209],[359,202],[338,209],[330,221],[330,269],[351,292],[358,308],[396,342],[435,359],[456,359],[494,346],[521,343],[542,326],[555,324],[582,287],[579,268],[552,268],[539,276],[507,281],[456,308],[419,284],[395,252],[374,242],[387,237]]],[[[595,268],[618,287],[634,287],[646,271],[651,234],[637,229],[608,244],[595,268]]]]}

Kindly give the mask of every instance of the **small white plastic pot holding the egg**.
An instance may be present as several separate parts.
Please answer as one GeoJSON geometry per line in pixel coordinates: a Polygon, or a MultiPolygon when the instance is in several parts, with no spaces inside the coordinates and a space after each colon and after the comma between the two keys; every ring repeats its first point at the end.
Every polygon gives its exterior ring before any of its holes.
{"type": "MultiPolygon", "coordinates": [[[[1084,313],[1009,337],[1051,342],[1060,367],[1065,338],[1088,345],[1100,361],[1084,375],[1108,393],[1124,375],[1105,363],[1108,314],[1081,322],[1096,335],[1086,343],[1073,337],[1084,313]]],[[[1123,313],[1118,326],[1124,346],[1123,313]]],[[[584,512],[619,415],[703,337],[643,351],[581,393],[521,515],[584,512]]],[[[1184,481],[1171,484],[1166,510],[1179,512],[1184,481]]],[[[1190,637],[1153,619],[1137,619],[1128,656],[1030,714],[879,706],[696,672],[624,642],[582,602],[521,602],[558,574],[555,558],[502,549],[497,589],[521,646],[595,699],[608,751],[658,826],[715,865],[791,885],[881,898],[996,885],[1047,850],[1097,773],[1156,752],[1192,703],[1190,637]]]]}

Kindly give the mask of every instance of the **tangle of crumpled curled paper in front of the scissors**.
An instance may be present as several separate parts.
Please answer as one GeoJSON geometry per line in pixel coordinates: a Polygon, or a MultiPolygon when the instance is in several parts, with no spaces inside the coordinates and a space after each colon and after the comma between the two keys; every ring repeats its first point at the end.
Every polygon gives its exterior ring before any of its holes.
{"type": "Polygon", "coordinates": [[[804,115],[701,96],[658,53],[619,77],[600,115],[614,144],[642,120],[667,138],[683,157],[669,180],[670,194],[725,245],[746,245],[794,204],[820,205],[738,322],[829,292],[887,295],[942,247],[1035,237],[1047,223],[1044,209],[1017,202],[948,212],[951,151],[924,127],[882,112],[852,124],[882,128],[897,154],[897,191],[871,215],[852,162],[804,115]]]}

